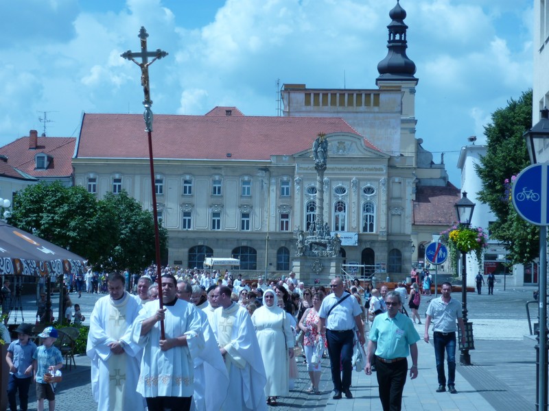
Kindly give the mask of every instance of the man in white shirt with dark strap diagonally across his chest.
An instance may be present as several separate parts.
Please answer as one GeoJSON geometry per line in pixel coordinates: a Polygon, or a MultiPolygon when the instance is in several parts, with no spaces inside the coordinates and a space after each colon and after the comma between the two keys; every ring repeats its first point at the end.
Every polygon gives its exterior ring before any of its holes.
{"type": "Polygon", "coordinates": [[[318,312],[318,335],[324,334],[326,327],[326,340],[330,357],[331,381],[334,383],[334,399],[340,399],[341,394],[353,398],[351,394],[351,373],[353,366],[353,339],[355,329],[358,332],[360,345],[366,342],[362,327],[362,308],[355,297],[344,292],[343,281],[336,277],[330,282],[331,294],[322,301],[318,312]],[[341,374],[341,366],[343,375],[341,374]]]}

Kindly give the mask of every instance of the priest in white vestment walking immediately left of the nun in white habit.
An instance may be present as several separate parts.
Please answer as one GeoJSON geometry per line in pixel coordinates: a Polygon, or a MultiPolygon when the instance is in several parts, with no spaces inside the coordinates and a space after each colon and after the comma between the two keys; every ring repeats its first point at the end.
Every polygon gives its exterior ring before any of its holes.
{"type": "Polygon", "coordinates": [[[229,372],[222,410],[266,410],[265,369],[250,314],[231,301],[231,289],[226,286],[215,288],[213,300],[220,305],[213,312],[213,332],[229,372]]]}

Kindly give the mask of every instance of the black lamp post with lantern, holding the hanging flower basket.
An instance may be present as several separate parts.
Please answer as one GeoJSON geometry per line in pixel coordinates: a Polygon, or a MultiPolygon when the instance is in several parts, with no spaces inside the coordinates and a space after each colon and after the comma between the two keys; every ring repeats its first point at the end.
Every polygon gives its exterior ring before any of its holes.
{"type": "MultiPolygon", "coordinates": [[[[462,227],[471,225],[471,218],[475,209],[475,203],[467,198],[467,192],[462,193],[462,197],[454,205],[458,214],[458,222],[462,227]]],[[[467,321],[467,252],[460,250],[461,253],[461,310],[463,312],[463,327],[465,328],[465,345],[461,344],[460,338],[460,356],[459,362],[463,365],[471,365],[471,356],[469,350],[474,349],[473,343],[473,324],[467,321]]]]}

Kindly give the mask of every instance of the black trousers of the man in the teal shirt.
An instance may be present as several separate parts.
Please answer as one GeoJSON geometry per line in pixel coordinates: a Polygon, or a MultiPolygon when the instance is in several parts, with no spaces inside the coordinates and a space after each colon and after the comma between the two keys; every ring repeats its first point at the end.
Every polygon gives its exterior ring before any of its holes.
{"type": "Polygon", "coordinates": [[[408,360],[397,362],[381,362],[375,360],[377,384],[379,384],[379,400],[383,411],[400,411],[402,407],[402,391],[408,374],[408,360]]]}

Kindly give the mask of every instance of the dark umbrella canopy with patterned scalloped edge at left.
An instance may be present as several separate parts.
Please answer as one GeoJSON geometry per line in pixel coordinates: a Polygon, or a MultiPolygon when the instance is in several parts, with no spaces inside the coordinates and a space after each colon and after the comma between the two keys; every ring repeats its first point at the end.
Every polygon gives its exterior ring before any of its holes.
{"type": "Polygon", "coordinates": [[[12,225],[0,222],[0,275],[84,273],[86,259],[12,225]]]}

